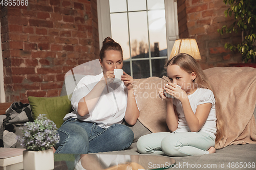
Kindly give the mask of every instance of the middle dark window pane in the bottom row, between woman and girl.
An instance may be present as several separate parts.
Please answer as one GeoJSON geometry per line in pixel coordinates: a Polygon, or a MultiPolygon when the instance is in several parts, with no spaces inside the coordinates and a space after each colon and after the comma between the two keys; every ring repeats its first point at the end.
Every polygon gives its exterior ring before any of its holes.
{"type": "Polygon", "coordinates": [[[150,61],[133,61],[133,78],[141,79],[150,77],[150,61]]]}

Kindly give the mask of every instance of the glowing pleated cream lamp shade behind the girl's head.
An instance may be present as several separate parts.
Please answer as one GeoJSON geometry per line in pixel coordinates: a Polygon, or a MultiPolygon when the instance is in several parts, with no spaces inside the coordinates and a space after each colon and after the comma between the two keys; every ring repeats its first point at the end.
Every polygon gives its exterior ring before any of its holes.
{"type": "Polygon", "coordinates": [[[196,60],[201,60],[197,41],[193,38],[177,39],[174,43],[169,59],[173,58],[179,53],[186,53],[194,57],[196,60]]]}

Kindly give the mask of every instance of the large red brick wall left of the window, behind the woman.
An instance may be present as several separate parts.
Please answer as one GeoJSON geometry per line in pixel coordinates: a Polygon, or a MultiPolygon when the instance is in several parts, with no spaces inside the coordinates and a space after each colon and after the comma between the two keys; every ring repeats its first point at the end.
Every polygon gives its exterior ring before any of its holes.
{"type": "Polygon", "coordinates": [[[96,0],[29,0],[2,6],[6,102],[59,96],[71,68],[98,58],[96,0]]]}

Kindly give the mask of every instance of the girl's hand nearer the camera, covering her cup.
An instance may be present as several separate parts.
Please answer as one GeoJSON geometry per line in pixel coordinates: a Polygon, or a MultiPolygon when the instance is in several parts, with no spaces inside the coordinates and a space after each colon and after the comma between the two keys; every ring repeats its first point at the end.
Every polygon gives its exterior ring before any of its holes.
{"type": "Polygon", "coordinates": [[[182,90],[177,84],[168,83],[163,87],[167,93],[173,95],[176,99],[181,100],[187,96],[186,92],[182,90]]]}

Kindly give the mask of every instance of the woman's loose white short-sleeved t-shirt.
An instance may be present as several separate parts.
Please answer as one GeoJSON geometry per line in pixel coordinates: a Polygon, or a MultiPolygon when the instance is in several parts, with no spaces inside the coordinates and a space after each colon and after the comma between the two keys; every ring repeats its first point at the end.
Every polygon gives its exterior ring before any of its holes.
{"type": "Polygon", "coordinates": [[[127,88],[123,82],[111,83],[108,86],[109,93],[105,86],[96,106],[89,114],[81,117],[77,113],[79,101],[94,88],[102,77],[103,73],[97,76],[86,76],[79,81],[71,98],[71,105],[74,111],[68,113],[63,118],[64,120],[70,117],[78,118],[84,122],[97,123],[103,129],[113,124],[122,123],[127,106],[127,88]]]}

